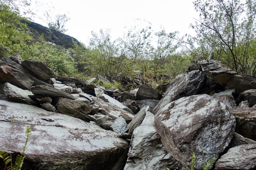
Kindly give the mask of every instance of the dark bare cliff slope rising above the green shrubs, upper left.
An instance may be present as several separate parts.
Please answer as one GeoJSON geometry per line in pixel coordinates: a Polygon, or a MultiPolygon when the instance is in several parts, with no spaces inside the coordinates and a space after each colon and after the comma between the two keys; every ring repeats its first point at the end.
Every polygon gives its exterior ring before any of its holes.
{"type": "Polygon", "coordinates": [[[46,41],[58,44],[65,48],[70,48],[73,46],[72,39],[77,42],[77,44],[80,44],[76,38],[61,32],[50,30],[49,28],[42,26],[38,23],[30,22],[27,23],[27,26],[29,28],[29,31],[32,33],[34,41],[37,41],[40,38],[40,35],[44,34],[44,38],[46,41]]]}

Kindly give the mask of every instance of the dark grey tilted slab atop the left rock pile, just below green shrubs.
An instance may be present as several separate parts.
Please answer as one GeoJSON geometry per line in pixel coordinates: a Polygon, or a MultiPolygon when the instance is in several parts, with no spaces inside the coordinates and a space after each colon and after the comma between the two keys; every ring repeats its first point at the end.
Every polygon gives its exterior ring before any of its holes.
{"type": "Polygon", "coordinates": [[[44,80],[57,78],[57,76],[41,61],[24,60],[21,62],[21,65],[44,80]]]}

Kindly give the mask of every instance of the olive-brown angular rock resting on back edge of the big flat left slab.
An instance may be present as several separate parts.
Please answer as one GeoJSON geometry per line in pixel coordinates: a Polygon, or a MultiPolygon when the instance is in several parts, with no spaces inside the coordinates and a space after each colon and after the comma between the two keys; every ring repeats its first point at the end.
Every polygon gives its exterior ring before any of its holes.
{"type": "Polygon", "coordinates": [[[55,107],[61,113],[82,119],[84,121],[89,121],[89,118],[86,115],[92,111],[92,108],[85,103],[63,97],[57,97],[54,102],[56,103],[55,107]]]}

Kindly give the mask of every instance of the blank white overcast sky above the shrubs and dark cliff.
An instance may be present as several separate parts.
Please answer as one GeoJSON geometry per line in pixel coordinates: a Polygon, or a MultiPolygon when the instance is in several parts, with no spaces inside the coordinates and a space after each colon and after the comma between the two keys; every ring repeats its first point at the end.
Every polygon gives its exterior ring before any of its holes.
{"type": "MultiPolygon", "coordinates": [[[[151,22],[153,31],[160,31],[161,26],[166,33],[193,34],[189,26],[198,18],[192,0],[44,0],[41,6],[35,5],[36,0],[31,1],[32,9],[39,13],[49,6],[55,6],[56,14],[69,12],[71,19],[66,23],[66,34],[85,44],[91,31],[99,33],[101,28],[111,29],[112,40],[122,37],[127,30],[124,27],[135,25],[137,18],[151,22]]],[[[34,22],[47,26],[37,18],[34,22]]]]}

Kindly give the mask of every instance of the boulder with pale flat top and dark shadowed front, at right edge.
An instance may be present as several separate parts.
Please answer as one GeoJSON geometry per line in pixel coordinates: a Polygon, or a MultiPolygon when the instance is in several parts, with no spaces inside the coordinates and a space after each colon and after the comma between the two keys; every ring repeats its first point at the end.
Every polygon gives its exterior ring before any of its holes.
{"type": "Polygon", "coordinates": [[[256,108],[232,108],[236,117],[236,133],[243,137],[256,140],[256,108]]]}

